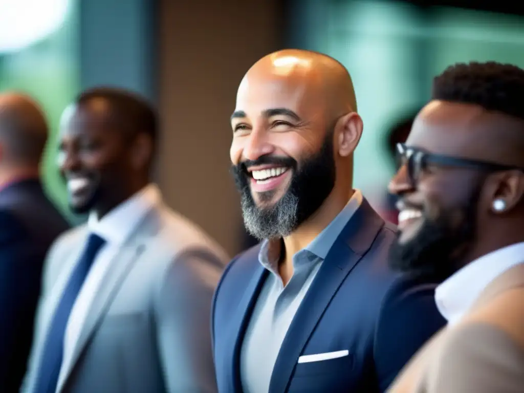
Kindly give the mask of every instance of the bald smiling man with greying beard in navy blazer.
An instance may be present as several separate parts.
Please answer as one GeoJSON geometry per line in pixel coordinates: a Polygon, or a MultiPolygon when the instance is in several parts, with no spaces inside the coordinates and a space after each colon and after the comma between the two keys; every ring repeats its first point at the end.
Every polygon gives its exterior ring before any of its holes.
{"type": "Polygon", "coordinates": [[[232,173],[261,244],[215,292],[223,393],[384,391],[443,324],[431,279],[388,267],[395,226],[352,187],[362,136],[351,77],[320,53],[269,54],[243,78],[232,173]]]}

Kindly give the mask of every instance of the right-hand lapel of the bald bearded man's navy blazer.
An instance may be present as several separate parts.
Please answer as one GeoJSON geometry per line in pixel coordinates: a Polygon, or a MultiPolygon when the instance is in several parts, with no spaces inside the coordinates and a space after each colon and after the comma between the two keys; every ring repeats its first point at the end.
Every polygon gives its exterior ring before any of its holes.
{"type": "Polygon", "coordinates": [[[298,358],[316,324],[383,225],[384,221],[364,199],[331,247],[289,326],[271,375],[270,393],[287,391],[298,358]]]}

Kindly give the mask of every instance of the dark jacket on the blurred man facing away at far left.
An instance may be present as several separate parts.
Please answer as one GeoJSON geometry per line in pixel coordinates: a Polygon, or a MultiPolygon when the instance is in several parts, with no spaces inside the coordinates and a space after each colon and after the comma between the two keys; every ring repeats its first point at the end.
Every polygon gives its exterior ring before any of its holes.
{"type": "Polygon", "coordinates": [[[31,348],[42,265],[69,228],[37,179],[0,191],[0,391],[18,392],[31,348]]]}

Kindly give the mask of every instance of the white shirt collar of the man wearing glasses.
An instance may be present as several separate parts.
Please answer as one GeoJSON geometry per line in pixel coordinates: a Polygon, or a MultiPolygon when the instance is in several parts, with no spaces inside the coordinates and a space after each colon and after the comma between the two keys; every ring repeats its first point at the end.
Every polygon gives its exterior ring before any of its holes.
{"type": "Polygon", "coordinates": [[[524,263],[524,242],[475,259],[436,287],[436,307],[450,325],[460,321],[490,282],[521,263],[524,263]]]}

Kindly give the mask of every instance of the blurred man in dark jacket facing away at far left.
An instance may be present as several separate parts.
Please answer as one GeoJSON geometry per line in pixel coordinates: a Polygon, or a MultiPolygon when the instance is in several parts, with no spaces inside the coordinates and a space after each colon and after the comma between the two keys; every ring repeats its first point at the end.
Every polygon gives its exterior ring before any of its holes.
{"type": "Polygon", "coordinates": [[[48,129],[29,97],[0,95],[0,391],[18,391],[31,347],[42,264],[69,224],[39,180],[48,129]]]}

